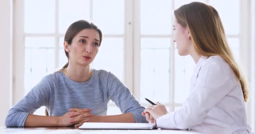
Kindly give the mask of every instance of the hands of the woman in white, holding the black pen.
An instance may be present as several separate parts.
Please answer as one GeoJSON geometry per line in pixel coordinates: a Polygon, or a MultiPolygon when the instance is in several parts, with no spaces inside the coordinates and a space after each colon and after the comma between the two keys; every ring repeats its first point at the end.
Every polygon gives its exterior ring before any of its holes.
{"type": "Polygon", "coordinates": [[[146,116],[147,121],[155,123],[155,119],[167,114],[167,110],[164,105],[157,102],[157,105],[151,105],[142,112],[143,116],[146,116]]]}

